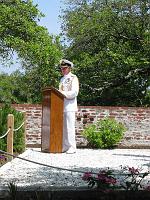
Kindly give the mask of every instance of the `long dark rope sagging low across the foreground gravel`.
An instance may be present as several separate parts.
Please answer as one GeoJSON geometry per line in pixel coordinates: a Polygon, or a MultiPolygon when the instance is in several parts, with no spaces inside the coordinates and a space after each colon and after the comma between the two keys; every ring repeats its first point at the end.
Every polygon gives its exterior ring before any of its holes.
{"type": "MultiPolygon", "coordinates": [[[[40,163],[40,162],[36,162],[36,161],[33,161],[33,160],[29,160],[29,159],[26,159],[26,158],[21,158],[19,156],[12,155],[12,154],[7,153],[7,152],[2,151],[2,150],[0,150],[0,153],[4,154],[6,156],[12,156],[13,158],[18,158],[18,159],[23,160],[23,161],[27,161],[27,162],[30,162],[30,163],[33,163],[33,164],[38,164],[38,165],[41,165],[41,166],[44,166],[44,167],[49,167],[49,168],[53,168],[53,169],[57,169],[57,170],[76,172],[76,173],[80,173],[80,174],[87,173],[87,171],[73,170],[73,169],[67,169],[67,168],[55,167],[55,166],[52,166],[52,165],[43,164],[43,163],[40,163]]],[[[93,174],[93,175],[98,175],[98,173],[96,173],[96,172],[90,171],[90,173],[93,174]]],[[[148,171],[147,173],[150,173],[150,172],[148,171]]],[[[143,175],[143,174],[145,174],[145,172],[140,173],[140,175],[143,175]]],[[[128,175],[131,175],[131,174],[130,173],[113,173],[112,175],[128,176],[128,175]]]]}

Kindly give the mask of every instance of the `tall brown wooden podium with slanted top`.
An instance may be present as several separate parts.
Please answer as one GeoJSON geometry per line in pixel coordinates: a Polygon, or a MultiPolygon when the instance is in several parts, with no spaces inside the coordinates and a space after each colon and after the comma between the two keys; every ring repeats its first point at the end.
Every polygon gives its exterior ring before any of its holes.
{"type": "Polygon", "coordinates": [[[41,151],[61,153],[65,96],[50,87],[43,90],[41,151]]]}

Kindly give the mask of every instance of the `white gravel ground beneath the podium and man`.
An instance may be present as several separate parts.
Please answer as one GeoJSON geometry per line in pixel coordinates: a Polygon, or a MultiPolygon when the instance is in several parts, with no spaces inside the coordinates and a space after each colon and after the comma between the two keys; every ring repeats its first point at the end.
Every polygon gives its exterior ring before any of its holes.
{"type": "MultiPolygon", "coordinates": [[[[98,172],[110,168],[119,172],[120,166],[150,169],[150,149],[92,150],[77,149],[75,154],[43,153],[40,149],[27,149],[20,157],[42,164],[78,170],[98,172]]],[[[82,173],[57,170],[18,158],[0,167],[0,190],[13,182],[23,189],[78,188],[87,187],[82,173]]],[[[147,181],[150,177],[146,177],[147,181]]]]}

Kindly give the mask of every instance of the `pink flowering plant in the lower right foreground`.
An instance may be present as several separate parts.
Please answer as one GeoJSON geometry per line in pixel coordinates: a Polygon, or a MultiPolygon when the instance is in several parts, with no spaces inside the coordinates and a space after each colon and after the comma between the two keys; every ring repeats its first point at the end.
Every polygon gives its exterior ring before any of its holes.
{"type": "Polygon", "coordinates": [[[121,167],[120,174],[114,174],[113,170],[100,170],[99,173],[86,172],[82,180],[88,183],[90,188],[97,188],[103,191],[114,189],[123,190],[150,190],[150,186],[145,187],[143,179],[149,172],[141,173],[141,170],[134,167],[121,167]],[[123,178],[122,178],[123,177],[123,178]]]}

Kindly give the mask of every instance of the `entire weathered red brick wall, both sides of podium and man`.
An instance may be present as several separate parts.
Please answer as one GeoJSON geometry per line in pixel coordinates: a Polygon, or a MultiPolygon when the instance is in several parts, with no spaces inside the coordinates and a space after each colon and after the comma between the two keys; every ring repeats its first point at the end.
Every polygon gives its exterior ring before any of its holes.
{"type": "MultiPolygon", "coordinates": [[[[35,104],[12,104],[18,111],[26,112],[26,145],[40,147],[42,106],[35,104]]],[[[79,106],[76,115],[77,146],[86,146],[81,132],[85,126],[104,117],[113,117],[127,127],[120,148],[150,148],[150,108],[79,106]]]]}

